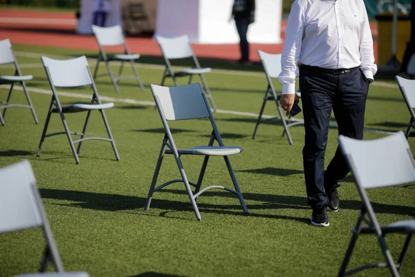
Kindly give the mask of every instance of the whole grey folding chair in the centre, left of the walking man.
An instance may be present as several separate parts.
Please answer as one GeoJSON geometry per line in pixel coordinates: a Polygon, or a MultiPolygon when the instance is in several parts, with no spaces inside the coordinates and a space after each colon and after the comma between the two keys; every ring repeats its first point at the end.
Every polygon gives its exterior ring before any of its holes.
{"type": "Polygon", "coordinates": [[[160,87],[154,84],[150,85],[151,92],[153,93],[154,100],[156,101],[156,106],[158,113],[160,114],[161,121],[165,129],[165,136],[163,143],[161,145],[160,154],[158,155],[158,161],[156,165],[156,170],[154,171],[153,180],[151,181],[151,186],[149,190],[149,195],[147,197],[147,203],[145,205],[145,211],[149,209],[151,198],[153,193],[169,184],[176,182],[183,182],[189,195],[190,203],[193,206],[194,213],[196,214],[197,220],[201,221],[201,215],[199,213],[199,208],[196,205],[196,198],[201,195],[201,193],[212,188],[221,188],[223,190],[228,190],[231,193],[234,193],[238,196],[239,202],[241,202],[243,213],[248,213],[246,208],[245,201],[243,200],[241,190],[239,189],[237,178],[234,175],[232,166],[230,165],[229,157],[233,154],[238,154],[242,151],[242,148],[239,147],[226,147],[223,144],[219,130],[216,127],[212,111],[208,104],[208,100],[203,93],[203,89],[200,83],[196,84],[187,84],[181,87],[160,87]],[[170,132],[169,125],[167,120],[188,120],[196,118],[209,118],[212,125],[212,135],[210,136],[210,141],[208,145],[197,146],[195,148],[187,149],[178,149],[176,143],[173,140],[172,132],[170,132]],[[214,146],[214,141],[219,143],[219,146],[214,146]],[[167,149],[168,148],[168,149],[167,149]],[[182,179],[176,179],[172,181],[167,181],[165,184],[156,186],[156,181],[158,177],[158,172],[160,171],[161,163],[165,154],[173,154],[174,159],[176,160],[178,170],[181,173],[182,179]],[[197,183],[192,183],[186,177],[183,164],[181,162],[181,155],[202,155],[205,156],[203,160],[203,165],[201,172],[199,174],[199,179],[197,183]],[[203,175],[205,175],[206,166],[208,166],[208,161],[210,156],[222,156],[225,160],[225,164],[228,167],[228,172],[232,183],[234,185],[234,190],[226,188],[224,186],[208,186],[201,190],[201,184],[203,181],[203,175]],[[194,193],[190,188],[190,185],[195,187],[194,193]]]}

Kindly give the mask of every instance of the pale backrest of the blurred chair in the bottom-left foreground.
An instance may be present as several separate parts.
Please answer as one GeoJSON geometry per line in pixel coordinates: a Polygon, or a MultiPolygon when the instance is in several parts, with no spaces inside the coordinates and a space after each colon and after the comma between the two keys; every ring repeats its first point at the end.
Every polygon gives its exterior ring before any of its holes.
{"type": "Polygon", "coordinates": [[[36,179],[27,160],[0,168],[0,233],[44,224],[36,179]]]}

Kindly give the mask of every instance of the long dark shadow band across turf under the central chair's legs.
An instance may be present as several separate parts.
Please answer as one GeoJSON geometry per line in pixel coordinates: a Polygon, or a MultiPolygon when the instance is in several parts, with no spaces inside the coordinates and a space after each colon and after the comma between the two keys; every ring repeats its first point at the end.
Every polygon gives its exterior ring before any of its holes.
{"type": "MultiPolygon", "coordinates": [[[[400,189],[400,188],[397,188],[400,189]]],[[[187,196],[185,190],[170,190],[163,189],[159,192],[162,193],[173,193],[177,195],[187,196]]],[[[90,208],[99,211],[131,211],[134,209],[144,208],[145,197],[135,197],[128,195],[110,195],[106,193],[89,193],[75,190],[55,190],[41,188],[40,193],[42,198],[45,199],[57,199],[76,202],[73,204],[64,204],[66,206],[75,206],[80,208],[90,208]]],[[[190,202],[179,202],[176,200],[165,200],[158,198],[158,193],[155,193],[155,198],[151,200],[150,208],[158,208],[161,210],[170,211],[192,211],[190,202]]],[[[160,197],[160,196],[159,196],[160,197]]],[[[201,197],[232,197],[237,200],[237,197],[230,193],[219,192],[219,191],[207,191],[201,195],[201,197]]],[[[309,223],[308,218],[303,217],[288,217],[284,215],[269,215],[261,213],[252,213],[252,210],[264,210],[264,209],[307,209],[306,197],[291,196],[291,195],[267,195],[261,193],[243,193],[243,198],[247,202],[256,201],[262,202],[261,204],[247,204],[248,209],[251,210],[250,216],[253,217],[264,217],[271,219],[284,219],[284,220],[296,220],[299,222],[309,223]]],[[[415,207],[405,207],[390,204],[378,204],[372,202],[372,206],[377,213],[394,213],[398,215],[409,215],[415,216],[415,207]]],[[[241,206],[239,204],[231,205],[218,205],[218,204],[206,204],[199,203],[199,210],[201,213],[217,213],[217,214],[228,214],[228,215],[243,215],[241,206]],[[235,211],[229,211],[235,210],[235,211]]],[[[344,209],[351,209],[360,211],[362,205],[357,200],[342,200],[341,207],[344,209]]],[[[165,212],[160,213],[160,216],[165,217],[165,212]]],[[[145,215],[145,212],[142,213],[145,215]]],[[[150,215],[150,214],[149,214],[150,215]]]]}

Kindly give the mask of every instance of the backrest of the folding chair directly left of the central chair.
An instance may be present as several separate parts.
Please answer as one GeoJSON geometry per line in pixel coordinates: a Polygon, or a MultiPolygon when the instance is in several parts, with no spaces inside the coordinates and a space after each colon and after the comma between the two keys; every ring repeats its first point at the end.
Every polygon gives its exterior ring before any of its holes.
{"type": "Polygon", "coordinates": [[[53,60],[42,56],[42,63],[54,87],[83,87],[93,82],[85,56],[71,60],[53,60]]]}

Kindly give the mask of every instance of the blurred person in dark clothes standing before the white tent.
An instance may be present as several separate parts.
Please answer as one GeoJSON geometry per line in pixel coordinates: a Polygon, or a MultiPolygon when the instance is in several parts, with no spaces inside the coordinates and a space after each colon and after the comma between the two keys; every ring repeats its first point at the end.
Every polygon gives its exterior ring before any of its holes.
{"type": "Polygon", "coordinates": [[[249,24],[255,21],[255,0],[234,0],[232,17],[237,25],[240,39],[241,59],[238,62],[249,64],[249,43],[246,35],[249,24]]]}

